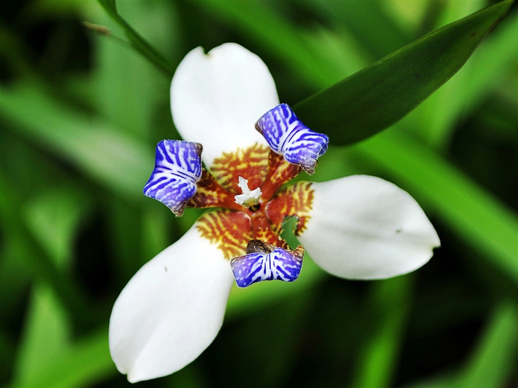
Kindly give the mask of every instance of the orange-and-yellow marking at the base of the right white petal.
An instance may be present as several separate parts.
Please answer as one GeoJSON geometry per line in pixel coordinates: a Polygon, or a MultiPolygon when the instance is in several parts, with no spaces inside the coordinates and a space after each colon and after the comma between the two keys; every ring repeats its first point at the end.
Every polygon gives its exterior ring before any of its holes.
{"type": "Polygon", "coordinates": [[[265,213],[271,222],[272,229],[280,233],[284,218],[297,216],[295,234],[298,235],[306,228],[306,222],[310,218],[309,211],[313,197],[311,182],[297,182],[279,191],[265,206],[265,213]]]}

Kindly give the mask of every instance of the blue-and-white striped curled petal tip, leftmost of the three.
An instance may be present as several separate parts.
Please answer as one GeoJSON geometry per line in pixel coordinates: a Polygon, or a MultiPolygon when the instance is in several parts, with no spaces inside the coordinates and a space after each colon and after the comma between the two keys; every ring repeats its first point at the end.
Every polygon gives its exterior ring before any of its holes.
{"type": "Polygon", "coordinates": [[[181,216],[202,176],[201,155],[199,143],[162,140],[156,145],[155,168],[144,186],[144,194],[181,216]]]}

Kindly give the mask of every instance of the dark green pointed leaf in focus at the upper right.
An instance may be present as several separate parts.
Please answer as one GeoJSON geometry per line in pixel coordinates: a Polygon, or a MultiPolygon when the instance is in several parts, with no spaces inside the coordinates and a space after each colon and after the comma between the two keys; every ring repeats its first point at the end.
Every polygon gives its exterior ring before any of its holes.
{"type": "Polygon", "coordinates": [[[366,139],[397,122],[448,81],[505,16],[497,3],[433,31],[294,106],[334,144],[366,139]]]}

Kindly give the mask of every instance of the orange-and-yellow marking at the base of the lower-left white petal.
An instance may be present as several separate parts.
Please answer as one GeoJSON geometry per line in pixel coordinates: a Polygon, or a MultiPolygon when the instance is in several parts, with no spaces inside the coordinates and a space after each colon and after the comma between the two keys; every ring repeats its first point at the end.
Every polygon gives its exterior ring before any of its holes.
{"type": "Polygon", "coordinates": [[[197,228],[203,237],[218,245],[228,260],[244,255],[253,238],[252,221],[244,212],[207,212],[199,218],[197,228]]]}

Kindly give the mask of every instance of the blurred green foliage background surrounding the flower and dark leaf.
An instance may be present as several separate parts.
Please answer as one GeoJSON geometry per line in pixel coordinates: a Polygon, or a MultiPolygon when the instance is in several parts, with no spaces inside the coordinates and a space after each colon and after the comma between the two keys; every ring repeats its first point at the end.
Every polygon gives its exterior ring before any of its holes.
{"type": "MultiPolygon", "coordinates": [[[[194,47],[242,44],[293,104],[488,4],[117,7],[172,69],[194,47]]],[[[175,218],[142,195],[155,144],[179,138],[170,79],[95,1],[0,7],[0,383],[128,386],[108,352],[113,302],[200,214],[175,218]]],[[[295,283],[235,288],[207,351],[139,386],[518,386],[516,36],[513,7],[439,91],[379,135],[331,146],[313,176],[372,174],[410,192],[441,238],[428,264],[361,282],[330,277],[307,258],[295,283]]]]}

